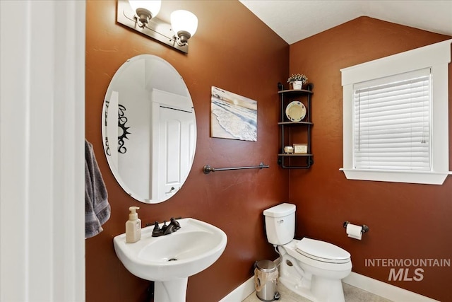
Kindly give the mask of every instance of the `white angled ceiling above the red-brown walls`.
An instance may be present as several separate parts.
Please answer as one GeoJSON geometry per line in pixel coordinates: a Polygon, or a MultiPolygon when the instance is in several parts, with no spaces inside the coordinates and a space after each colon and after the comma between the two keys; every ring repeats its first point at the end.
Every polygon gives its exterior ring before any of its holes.
{"type": "Polygon", "coordinates": [[[452,0],[239,0],[293,44],[368,16],[452,36],[452,0]]]}

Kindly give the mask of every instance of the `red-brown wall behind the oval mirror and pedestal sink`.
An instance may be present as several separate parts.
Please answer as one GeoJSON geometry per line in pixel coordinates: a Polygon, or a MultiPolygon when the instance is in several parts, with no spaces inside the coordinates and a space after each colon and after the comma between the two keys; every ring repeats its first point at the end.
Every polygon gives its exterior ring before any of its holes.
{"type": "Polygon", "coordinates": [[[288,197],[287,171],[277,165],[278,81],[289,72],[289,45],[239,1],[164,1],[198,16],[189,54],[116,23],[116,1],[87,1],[86,138],[94,146],[107,185],[112,216],[98,236],[86,240],[86,300],[144,301],[148,282],[130,274],[117,259],[113,237],[124,233],[131,205],[144,223],[171,216],[213,223],[227,234],[220,259],[189,278],[187,301],[219,301],[252,276],[256,260],[274,259],[263,229],[263,209],[288,197]],[[103,155],[101,113],[105,92],[126,59],[155,54],[184,78],[198,127],[194,165],[182,190],[162,204],[142,204],[117,184],[103,155]],[[258,141],[210,138],[210,88],[217,86],[258,102],[258,141]],[[203,165],[270,168],[204,175],[203,165]]]}

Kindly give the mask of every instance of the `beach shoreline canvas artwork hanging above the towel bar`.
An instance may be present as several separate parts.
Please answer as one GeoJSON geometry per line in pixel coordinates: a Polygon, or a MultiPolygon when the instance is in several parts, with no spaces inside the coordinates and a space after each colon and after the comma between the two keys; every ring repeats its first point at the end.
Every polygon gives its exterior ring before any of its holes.
{"type": "Polygon", "coordinates": [[[212,137],[257,141],[257,101],[212,86],[212,137]]]}

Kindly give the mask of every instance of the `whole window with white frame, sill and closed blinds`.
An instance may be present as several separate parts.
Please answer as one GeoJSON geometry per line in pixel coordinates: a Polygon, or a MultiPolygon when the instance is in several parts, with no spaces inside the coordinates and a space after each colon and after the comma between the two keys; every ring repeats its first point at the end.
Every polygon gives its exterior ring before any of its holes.
{"type": "Polygon", "coordinates": [[[341,69],[348,179],[444,182],[451,41],[341,69]]]}

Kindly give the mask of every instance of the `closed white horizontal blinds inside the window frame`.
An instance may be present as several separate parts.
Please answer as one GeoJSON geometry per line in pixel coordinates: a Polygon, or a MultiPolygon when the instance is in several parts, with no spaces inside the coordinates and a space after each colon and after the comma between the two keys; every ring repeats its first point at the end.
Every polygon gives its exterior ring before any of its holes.
{"type": "Polygon", "coordinates": [[[354,85],[356,169],[430,170],[430,69],[354,85]]]}

